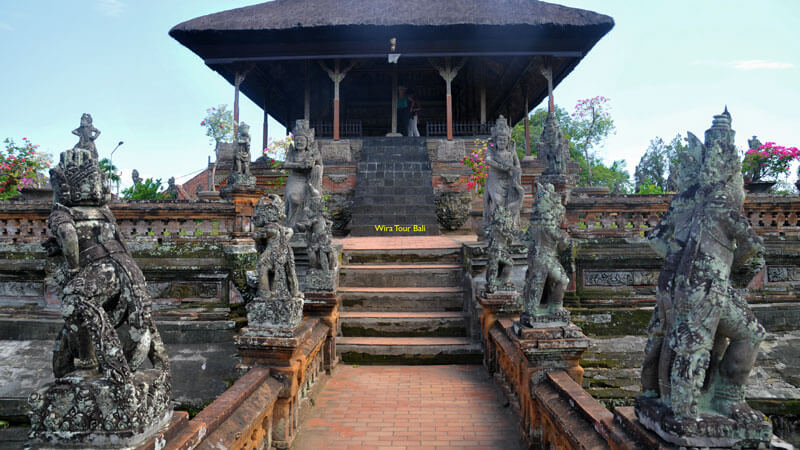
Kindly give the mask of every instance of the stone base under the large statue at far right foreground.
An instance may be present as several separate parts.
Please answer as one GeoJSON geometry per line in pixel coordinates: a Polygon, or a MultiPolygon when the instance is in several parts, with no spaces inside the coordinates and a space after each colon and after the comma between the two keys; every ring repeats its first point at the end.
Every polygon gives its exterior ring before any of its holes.
{"type": "Polygon", "coordinates": [[[772,439],[772,426],[766,420],[744,423],[716,414],[680,419],[657,398],[638,397],[635,412],[638,420],[628,414],[623,423],[627,421],[628,427],[646,428],[651,432],[651,439],[672,446],[756,448],[759,442],[768,443],[772,439]]]}

